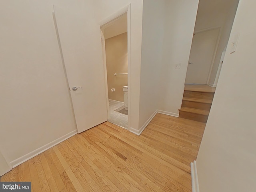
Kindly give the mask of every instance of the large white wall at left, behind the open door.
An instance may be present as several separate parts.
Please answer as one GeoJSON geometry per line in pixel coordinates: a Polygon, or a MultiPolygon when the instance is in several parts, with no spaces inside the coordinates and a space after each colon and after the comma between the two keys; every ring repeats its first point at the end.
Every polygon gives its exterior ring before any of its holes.
{"type": "Polygon", "coordinates": [[[53,4],[93,16],[89,1],[0,1],[0,151],[8,162],[76,130],[53,4]]]}

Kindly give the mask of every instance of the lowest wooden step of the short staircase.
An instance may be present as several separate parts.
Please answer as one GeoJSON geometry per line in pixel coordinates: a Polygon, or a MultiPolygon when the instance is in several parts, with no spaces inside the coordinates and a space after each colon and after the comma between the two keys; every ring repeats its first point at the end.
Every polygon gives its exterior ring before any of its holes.
{"type": "Polygon", "coordinates": [[[206,123],[209,115],[209,111],[182,107],[179,109],[180,111],[180,118],[190,119],[198,122],[206,123]]]}

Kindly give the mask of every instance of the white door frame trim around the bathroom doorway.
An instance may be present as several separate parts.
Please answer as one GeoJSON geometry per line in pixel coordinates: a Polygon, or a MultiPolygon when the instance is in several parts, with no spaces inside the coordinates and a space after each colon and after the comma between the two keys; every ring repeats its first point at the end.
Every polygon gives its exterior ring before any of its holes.
{"type": "MultiPolygon", "coordinates": [[[[106,62],[106,47],[105,47],[105,37],[104,37],[104,28],[106,28],[109,24],[118,19],[122,14],[127,13],[127,60],[128,60],[128,88],[130,88],[130,54],[131,54],[131,4],[128,4],[124,8],[117,10],[101,22],[100,31],[102,34],[102,56],[103,56],[103,64],[104,64],[104,74],[105,74],[105,89],[106,89],[106,100],[107,100],[107,108],[108,108],[108,119],[110,117],[109,113],[109,102],[108,102],[108,79],[107,79],[107,62],[106,62]]],[[[128,130],[130,130],[130,91],[128,91],[128,130]]]]}

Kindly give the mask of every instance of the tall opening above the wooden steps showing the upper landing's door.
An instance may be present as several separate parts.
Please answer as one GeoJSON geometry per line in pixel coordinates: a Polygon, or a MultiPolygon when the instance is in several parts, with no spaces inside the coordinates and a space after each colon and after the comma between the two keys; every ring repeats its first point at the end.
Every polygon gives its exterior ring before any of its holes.
{"type": "Polygon", "coordinates": [[[239,0],[200,0],[185,84],[217,86],[239,0]]]}

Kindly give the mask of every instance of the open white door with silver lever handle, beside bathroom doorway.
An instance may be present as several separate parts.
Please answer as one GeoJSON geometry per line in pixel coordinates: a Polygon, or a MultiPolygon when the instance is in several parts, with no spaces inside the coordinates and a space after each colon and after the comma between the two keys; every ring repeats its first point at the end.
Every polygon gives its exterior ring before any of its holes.
{"type": "Polygon", "coordinates": [[[80,133],[108,120],[100,26],[93,15],[71,13],[56,6],[54,14],[80,133]]]}

